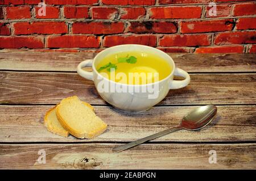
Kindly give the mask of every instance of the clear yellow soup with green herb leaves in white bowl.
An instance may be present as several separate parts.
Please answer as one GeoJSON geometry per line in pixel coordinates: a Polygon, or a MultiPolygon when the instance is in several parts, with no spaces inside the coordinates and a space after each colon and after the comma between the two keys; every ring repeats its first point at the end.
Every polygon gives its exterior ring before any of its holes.
{"type": "Polygon", "coordinates": [[[96,69],[108,79],[130,85],[157,82],[172,71],[164,58],[140,51],[110,54],[97,64],[96,69]]]}

